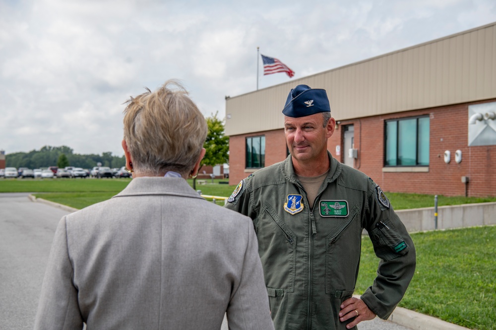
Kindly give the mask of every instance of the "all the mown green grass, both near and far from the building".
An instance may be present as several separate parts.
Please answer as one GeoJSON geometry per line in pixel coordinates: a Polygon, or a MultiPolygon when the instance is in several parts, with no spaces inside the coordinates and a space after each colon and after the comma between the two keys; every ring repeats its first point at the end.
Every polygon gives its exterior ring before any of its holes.
{"type": "MultiPolygon", "coordinates": [[[[0,192],[36,192],[37,197],[83,208],[112,197],[129,182],[130,179],[0,179],[0,192]]],[[[203,194],[226,197],[234,188],[218,181],[211,184],[211,180],[196,185],[203,194]]],[[[389,192],[387,196],[395,209],[434,206],[432,195],[389,192]]],[[[496,201],[496,197],[438,196],[439,206],[490,201],[496,201]]],[[[412,238],[417,269],[400,306],[470,329],[496,329],[496,226],[415,233],[412,238]]],[[[377,263],[372,243],[365,236],[356,293],[372,284],[377,263]]]]}

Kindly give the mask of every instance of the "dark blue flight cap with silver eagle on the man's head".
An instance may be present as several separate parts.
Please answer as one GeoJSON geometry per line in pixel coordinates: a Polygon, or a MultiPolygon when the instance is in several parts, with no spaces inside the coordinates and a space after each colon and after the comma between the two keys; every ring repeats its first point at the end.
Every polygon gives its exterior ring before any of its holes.
{"type": "Polygon", "coordinates": [[[285,116],[297,118],[327,111],[331,112],[331,106],[325,90],[298,85],[289,93],[282,113],[285,116]]]}

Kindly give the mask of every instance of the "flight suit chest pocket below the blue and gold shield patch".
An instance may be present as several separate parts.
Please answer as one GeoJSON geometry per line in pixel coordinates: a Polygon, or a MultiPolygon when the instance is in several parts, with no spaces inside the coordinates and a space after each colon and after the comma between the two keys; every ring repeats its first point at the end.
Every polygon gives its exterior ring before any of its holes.
{"type": "Polygon", "coordinates": [[[267,288],[293,292],[296,275],[296,235],[264,202],[256,221],[258,254],[267,288]]]}

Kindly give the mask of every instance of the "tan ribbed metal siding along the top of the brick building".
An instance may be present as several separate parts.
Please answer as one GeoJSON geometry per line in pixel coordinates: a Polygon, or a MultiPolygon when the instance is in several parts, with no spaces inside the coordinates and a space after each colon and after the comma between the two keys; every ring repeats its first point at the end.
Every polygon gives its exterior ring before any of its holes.
{"type": "Polygon", "coordinates": [[[226,134],[283,128],[298,84],[327,91],[336,120],[496,97],[496,23],[226,100],[226,134]]]}

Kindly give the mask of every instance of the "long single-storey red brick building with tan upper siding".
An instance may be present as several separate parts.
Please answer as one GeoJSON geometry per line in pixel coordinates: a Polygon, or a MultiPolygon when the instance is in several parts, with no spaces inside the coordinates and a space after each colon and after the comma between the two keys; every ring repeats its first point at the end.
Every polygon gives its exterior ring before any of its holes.
{"type": "Polygon", "coordinates": [[[384,191],[496,195],[496,22],[227,97],[231,185],[286,158],[281,111],[299,84],[327,91],[328,150],[384,191]]]}

